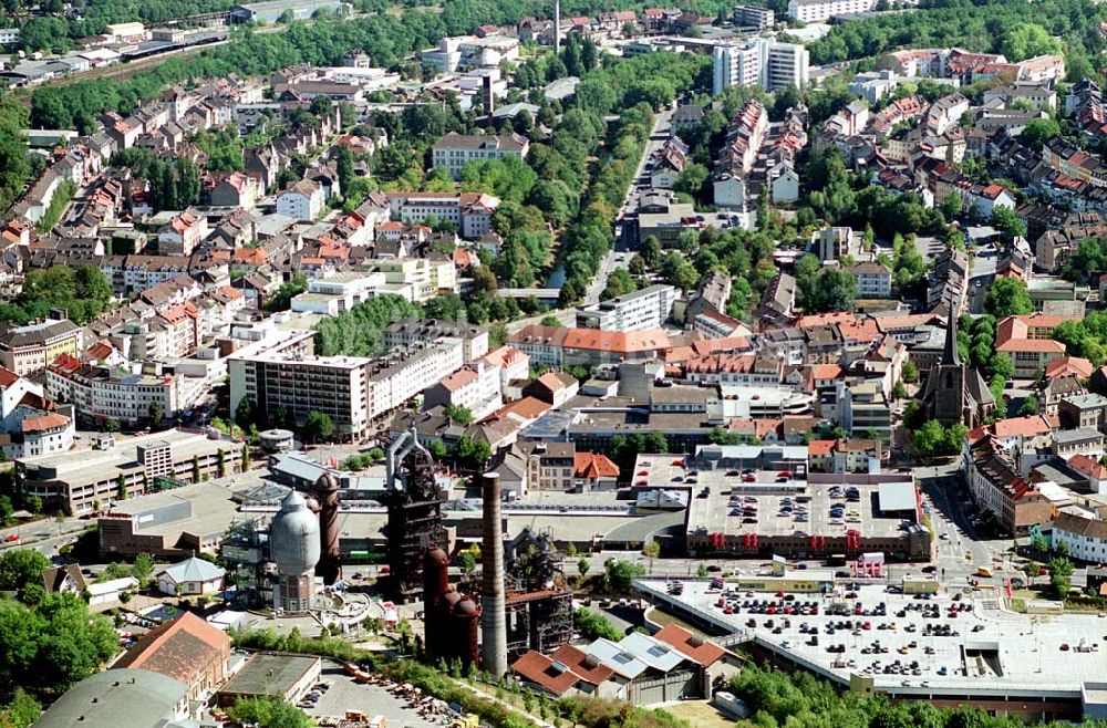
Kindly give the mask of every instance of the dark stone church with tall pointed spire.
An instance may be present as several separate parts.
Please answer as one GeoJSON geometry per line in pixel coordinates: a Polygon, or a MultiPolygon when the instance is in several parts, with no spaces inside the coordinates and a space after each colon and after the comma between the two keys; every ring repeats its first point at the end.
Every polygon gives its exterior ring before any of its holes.
{"type": "Polygon", "coordinates": [[[961,362],[958,354],[958,318],[952,311],[945,324],[942,360],[930,371],[922,402],[927,418],[937,419],[945,427],[961,423],[974,429],[995,412],[995,397],[980,371],[961,362]]]}

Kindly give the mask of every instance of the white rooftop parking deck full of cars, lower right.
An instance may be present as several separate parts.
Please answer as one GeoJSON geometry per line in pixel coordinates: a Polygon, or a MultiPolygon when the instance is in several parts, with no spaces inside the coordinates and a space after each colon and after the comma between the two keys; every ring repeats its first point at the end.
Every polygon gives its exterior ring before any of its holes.
{"type": "Polygon", "coordinates": [[[788,599],[727,594],[702,581],[685,582],[679,595],[663,581],[640,584],[656,603],[676,604],[835,682],[856,675],[893,695],[1073,699],[1084,679],[1107,670],[1107,618],[1015,614],[1000,609],[993,591],[923,596],[846,583],[788,599]]]}

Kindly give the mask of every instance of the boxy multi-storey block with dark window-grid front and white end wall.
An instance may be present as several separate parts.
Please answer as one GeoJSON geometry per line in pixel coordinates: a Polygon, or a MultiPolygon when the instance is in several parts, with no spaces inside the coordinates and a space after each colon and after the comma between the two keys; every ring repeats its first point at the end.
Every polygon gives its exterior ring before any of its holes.
{"type": "Polygon", "coordinates": [[[276,417],[287,412],[298,425],[310,412],[328,415],[335,434],[360,438],[369,427],[371,358],[314,356],[310,331],[279,332],[228,357],[230,405],[242,399],[276,417]]]}

